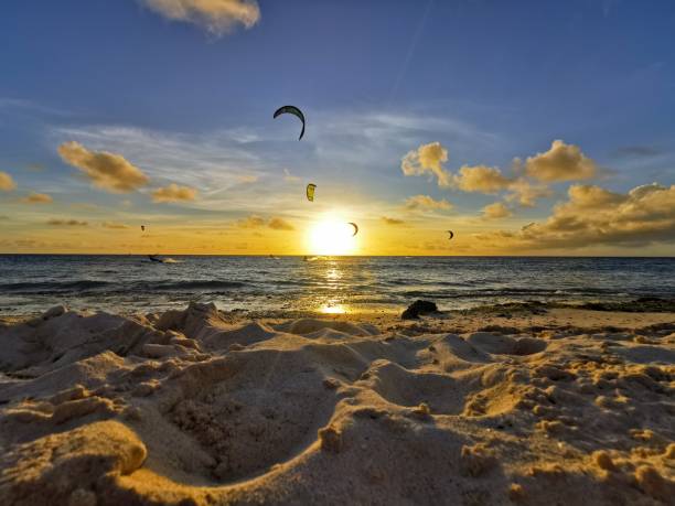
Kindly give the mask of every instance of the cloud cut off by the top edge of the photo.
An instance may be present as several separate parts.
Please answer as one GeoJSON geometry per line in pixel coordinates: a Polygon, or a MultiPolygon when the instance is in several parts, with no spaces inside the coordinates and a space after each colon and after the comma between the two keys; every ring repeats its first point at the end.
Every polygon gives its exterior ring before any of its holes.
{"type": "Polygon", "coordinates": [[[205,28],[214,35],[229,33],[238,24],[249,29],[260,19],[255,0],[141,0],[171,21],[185,21],[205,28]]]}

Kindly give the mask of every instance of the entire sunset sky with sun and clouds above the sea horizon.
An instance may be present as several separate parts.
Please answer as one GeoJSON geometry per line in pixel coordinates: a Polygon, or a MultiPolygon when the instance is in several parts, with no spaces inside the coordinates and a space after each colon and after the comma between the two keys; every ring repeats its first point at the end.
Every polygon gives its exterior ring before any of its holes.
{"type": "Polygon", "coordinates": [[[1,12],[0,252],[675,255],[669,0],[1,12]]]}

